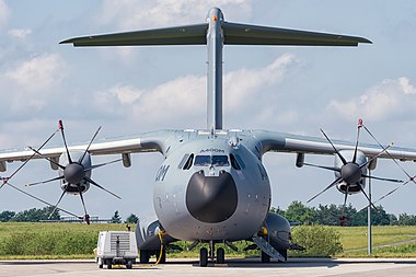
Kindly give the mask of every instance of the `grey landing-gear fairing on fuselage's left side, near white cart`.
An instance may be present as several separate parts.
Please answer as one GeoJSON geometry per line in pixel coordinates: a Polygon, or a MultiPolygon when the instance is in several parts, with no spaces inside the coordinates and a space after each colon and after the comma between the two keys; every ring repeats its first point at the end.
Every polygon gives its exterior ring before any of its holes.
{"type": "MultiPolygon", "coordinates": [[[[137,246],[139,250],[160,250],[161,240],[159,238],[159,232],[163,232],[163,228],[161,228],[159,220],[138,220],[136,226],[136,240],[137,246]]],[[[167,245],[171,242],[176,241],[171,235],[163,233],[162,234],[163,245],[167,245]]]]}

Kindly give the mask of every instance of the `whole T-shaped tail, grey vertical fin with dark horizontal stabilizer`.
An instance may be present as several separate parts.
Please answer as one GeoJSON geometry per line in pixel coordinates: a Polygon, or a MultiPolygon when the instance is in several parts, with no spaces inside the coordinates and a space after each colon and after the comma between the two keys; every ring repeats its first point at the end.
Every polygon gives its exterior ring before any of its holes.
{"type": "Polygon", "coordinates": [[[207,22],[167,28],[91,35],[61,42],[73,46],[207,45],[207,129],[222,129],[223,45],[358,46],[363,37],[226,22],[211,8],[207,22]]]}

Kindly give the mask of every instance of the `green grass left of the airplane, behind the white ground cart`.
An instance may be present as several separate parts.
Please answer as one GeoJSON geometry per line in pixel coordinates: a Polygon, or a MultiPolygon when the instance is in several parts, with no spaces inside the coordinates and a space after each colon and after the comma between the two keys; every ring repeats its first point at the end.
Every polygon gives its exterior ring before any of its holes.
{"type": "Polygon", "coordinates": [[[100,231],[125,224],[0,223],[1,258],[91,258],[100,231]]]}

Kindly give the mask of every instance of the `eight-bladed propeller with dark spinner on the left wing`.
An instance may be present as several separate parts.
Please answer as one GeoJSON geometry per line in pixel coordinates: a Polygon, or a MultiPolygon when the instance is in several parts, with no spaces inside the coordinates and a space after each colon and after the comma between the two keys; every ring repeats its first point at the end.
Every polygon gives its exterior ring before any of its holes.
{"type": "Polygon", "coordinates": [[[34,155],[39,155],[42,158],[44,158],[45,160],[49,161],[50,163],[55,164],[56,166],[58,166],[59,169],[62,170],[62,174],[58,177],[54,177],[54,178],[49,178],[49,180],[46,180],[46,181],[42,181],[42,182],[36,182],[36,183],[31,183],[31,184],[27,184],[26,186],[35,186],[35,185],[39,185],[39,184],[46,184],[46,183],[50,183],[50,182],[54,182],[54,181],[58,181],[58,180],[61,180],[63,182],[63,185],[62,185],[62,194],[60,195],[58,201],[53,205],[54,206],[54,210],[53,212],[50,212],[49,217],[55,212],[56,209],[60,209],[58,208],[60,201],[62,200],[63,198],[63,195],[66,195],[67,193],[73,193],[73,194],[79,194],[80,195],[80,198],[81,198],[81,204],[82,204],[82,208],[84,210],[84,217],[83,219],[86,221],[88,224],[90,224],[90,216],[86,211],[86,207],[85,207],[85,201],[84,201],[84,197],[83,197],[83,193],[86,191],[85,186],[83,184],[92,184],[93,186],[96,186],[97,188],[113,195],[114,197],[118,198],[118,199],[122,199],[118,195],[109,192],[108,189],[104,188],[103,186],[99,185],[95,181],[93,181],[90,176],[89,176],[89,172],[91,172],[93,169],[97,169],[97,168],[101,168],[101,166],[104,166],[104,165],[107,165],[107,164],[111,164],[111,163],[115,163],[115,162],[119,162],[122,161],[122,159],[118,159],[118,160],[114,160],[114,161],[111,161],[111,162],[106,162],[106,163],[101,163],[101,164],[95,164],[95,165],[91,165],[90,163],[83,163],[84,162],[84,159],[85,157],[88,155],[88,152],[91,148],[91,145],[92,142],[95,140],[96,136],[99,135],[99,131],[101,130],[101,127],[99,127],[99,129],[95,131],[94,136],[92,137],[92,139],[90,140],[88,147],[85,148],[85,150],[83,151],[83,153],[80,155],[79,159],[72,159],[73,157],[71,155],[70,151],[69,151],[69,148],[68,148],[68,143],[67,143],[67,139],[66,139],[66,135],[65,135],[65,130],[63,130],[63,123],[62,120],[59,120],[59,128],[58,130],[60,130],[60,134],[62,136],[62,140],[63,140],[63,146],[65,146],[65,150],[66,150],[66,155],[67,155],[67,159],[68,159],[68,164],[63,165],[63,164],[60,164],[58,162],[56,162],[54,159],[50,159],[48,157],[45,157],[44,154],[42,154],[39,152],[39,150],[36,150],[32,147],[30,147],[30,149],[34,152],[34,155]],[[85,165],[86,164],[86,165],[85,165]]]}

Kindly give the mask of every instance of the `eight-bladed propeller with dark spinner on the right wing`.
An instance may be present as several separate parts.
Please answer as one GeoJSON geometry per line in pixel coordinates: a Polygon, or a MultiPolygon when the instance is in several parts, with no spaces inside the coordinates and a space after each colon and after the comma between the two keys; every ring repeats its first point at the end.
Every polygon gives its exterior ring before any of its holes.
{"type": "Polygon", "coordinates": [[[328,186],[326,186],[322,192],[320,192],[319,194],[316,194],[312,198],[310,198],[308,200],[308,203],[312,201],[313,199],[315,199],[317,196],[322,195],[323,193],[325,193],[330,188],[332,188],[336,185],[339,185],[342,187],[342,189],[339,189],[339,191],[342,191],[342,193],[345,194],[343,209],[342,209],[342,216],[339,217],[339,221],[340,221],[342,226],[344,226],[345,221],[347,220],[347,217],[345,217],[345,207],[347,204],[348,195],[351,192],[361,192],[362,195],[369,200],[369,204],[377,210],[374,204],[371,203],[369,196],[363,191],[363,187],[361,185],[362,178],[369,178],[369,180],[373,178],[373,180],[385,181],[385,182],[403,183],[402,180],[377,177],[377,176],[372,176],[371,174],[367,175],[362,172],[362,169],[365,166],[367,166],[368,164],[370,164],[370,162],[375,160],[381,154],[388,152],[388,149],[393,146],[393,142],[390,143],[388,147],[383,147],[379,143],[380,147],[382,148],[382,151],[380,153],[378,153],[377,155],[372,157],[371,159],[368,159],[366,162],[361,161],[362,162],[361,163],[358,161],[358,146],[359,146],[359,138],[360,138],[361,128],[365,128],[367,131],[369,131],[363,126],[362,119],[359,119],[358,128],[357,128],[357,139],[356,139],[356,143],[355,143],[354,155],[353,155],[351,161],[347,161],[347,159],[339,152],[339,150],[335,147],[335,145],[332,142],[332,140],[325,134],[325,131],[323,129],[321,129],[321,132],[326,138],[328,143],[332,146],[335,154],[339,158],[339,160],[342,161],[343,164],[340,166],[325,166],[325,165],[316,165],[316,164],[311,164],[311,163],[304,163],[304,165],[308,165],[308,166],[324,169],[324,170],[328,170],[328,171],[333,171],[333,172],[338,173],[337,174],[338,176],[334,182],[332,182],[328,186]]]}

